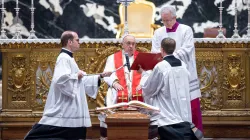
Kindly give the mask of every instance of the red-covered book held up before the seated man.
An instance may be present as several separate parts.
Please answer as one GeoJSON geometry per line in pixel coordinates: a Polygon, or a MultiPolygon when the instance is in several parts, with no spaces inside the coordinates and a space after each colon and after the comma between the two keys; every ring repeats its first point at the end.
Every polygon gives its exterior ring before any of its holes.
{"type": "Polygon", "coordinates": [[[140,66],[143,70],[152,70],[160,61],[162,61],[160,53],[139,53],[131,66],[131,70],[139,70],[140,66]]]}

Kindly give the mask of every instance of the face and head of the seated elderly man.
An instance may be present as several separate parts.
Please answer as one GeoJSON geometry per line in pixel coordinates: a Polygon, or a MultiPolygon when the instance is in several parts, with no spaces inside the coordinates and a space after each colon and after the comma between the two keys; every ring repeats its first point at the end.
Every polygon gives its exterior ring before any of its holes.
{"type": "Polygon", "coordinates": [[[128,53],[129,56],[134,54],[135,45],[135,38],[133,36],[128,35],[123,39],[122,48],[125,53],[128,53]]]}

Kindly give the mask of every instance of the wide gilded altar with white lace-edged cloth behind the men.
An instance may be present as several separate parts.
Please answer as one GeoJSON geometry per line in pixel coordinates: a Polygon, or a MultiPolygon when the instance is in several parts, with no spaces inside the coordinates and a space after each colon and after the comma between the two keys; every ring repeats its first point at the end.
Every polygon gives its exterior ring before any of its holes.
{"type": "MultiPolygon", "coordinates": [[[[250,39],[194,40],[205,137],[250,137],[250,39]]],[[[3,39],[0,44],[1,139],[22,139],[42,116],[60,40],[3,39]]],[[[136,48],[149,52],[151,39],[137,39],[136,48]]],[[[74,57],[80,69],[99,73],[107,57],[120,49],[119,39],[80,40],[74,57]]],[[[102,83],[97,99],[88,98],[93,124],[88,138],[100,136],[94,109],[104,106],[106,89],[102,83]]]]}

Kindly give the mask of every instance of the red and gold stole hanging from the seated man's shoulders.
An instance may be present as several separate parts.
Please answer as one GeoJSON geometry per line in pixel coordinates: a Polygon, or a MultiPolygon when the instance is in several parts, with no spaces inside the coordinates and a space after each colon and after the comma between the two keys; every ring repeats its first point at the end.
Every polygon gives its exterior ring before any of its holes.
{"type": "MultiPolygon", "coordinates": [[[[138,53],[139,53],[138,51],[134,52],[134,60],[135,60],[136,56],[138,55],[138,53]]],[[[123,65],[122,59],[123,59],[122,51],[119,51],[119,52],[114,54],[114,62],[115,62],[116,69],[123,65]]],[[[124,90],[118,91],[117,103],[128,102],[128,87],[126,84],[124,68],[116,71],[116,75],[119,78],[120,85],[122,85],[124,88],[124,90]]],[[[136,87],[139,85],[140,80],[141,80],[141,74],[138,73],[137,71],[133,71],[132,100],[138,100],[138,101],[143,102],[142,90],[136,92],[136,87]]]]}

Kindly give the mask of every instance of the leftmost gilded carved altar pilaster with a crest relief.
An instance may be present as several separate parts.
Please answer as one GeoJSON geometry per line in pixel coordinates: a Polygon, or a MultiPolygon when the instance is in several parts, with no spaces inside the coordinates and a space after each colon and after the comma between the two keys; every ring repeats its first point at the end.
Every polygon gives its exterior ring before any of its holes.
{"type": "Polygon", "coordinates": [[[27,107],[27,94],[30,92],[31,76],[28,60],[24,54],[8,56],[8,95],[11,98],[11,108],[27,107]]]}

